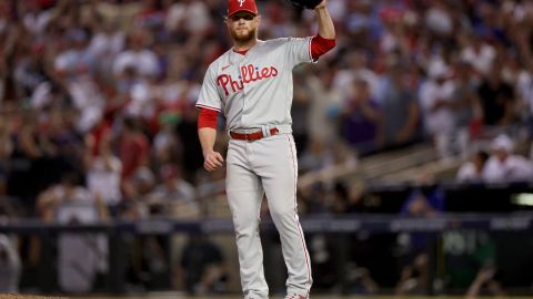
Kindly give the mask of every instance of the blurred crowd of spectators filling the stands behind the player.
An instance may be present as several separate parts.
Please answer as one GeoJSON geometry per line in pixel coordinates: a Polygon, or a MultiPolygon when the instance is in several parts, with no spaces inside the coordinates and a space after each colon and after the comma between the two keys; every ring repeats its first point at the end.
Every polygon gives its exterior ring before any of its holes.
{"type": "MultiPolygon", "coordinates": [[[[312,11],[258,4],[261,39],[316,34],[312,11]]],[[[430,142],[439,158],[465,161],[460,179],[532,177],[533,2],[329,8],[338,47],[294,71],[302,174],[430,142]],[[491,146],[473,148],[487,136],[491,146]]],[[[225,10],[221,0],[0,0],[6,210],[66,223],[203,215],[224,174],[202,169],[194,103],[231,47],[225,10]]],[[[329,192],[300,190],[304,212],[358,212],[359,185],[329,192]]]]}

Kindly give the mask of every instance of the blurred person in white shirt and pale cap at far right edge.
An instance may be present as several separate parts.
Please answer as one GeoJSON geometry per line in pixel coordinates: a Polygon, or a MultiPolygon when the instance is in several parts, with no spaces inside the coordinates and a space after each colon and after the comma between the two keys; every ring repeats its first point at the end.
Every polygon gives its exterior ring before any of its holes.
{"type": "Polygon", "coordinates": [[[514,143],[507,135],[499,135],[492,142],[493,154],[483,167],[486,182],[526,181],[533,178],[533,164],[514,155],[514,143]]]}

